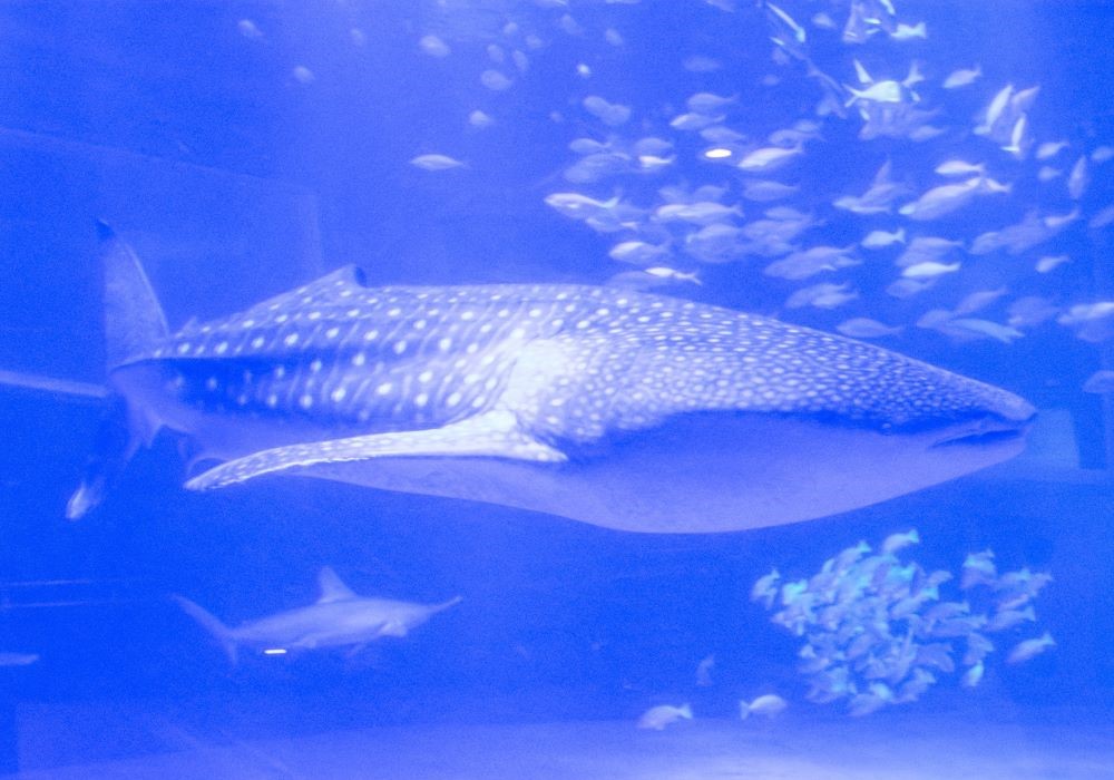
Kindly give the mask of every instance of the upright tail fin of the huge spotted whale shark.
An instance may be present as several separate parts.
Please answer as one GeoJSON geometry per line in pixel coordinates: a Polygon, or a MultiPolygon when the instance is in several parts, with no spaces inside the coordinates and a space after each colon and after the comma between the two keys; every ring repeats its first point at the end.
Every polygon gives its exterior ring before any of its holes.
{"type": "MultiPolygon", "coordinates": [[[[168,329],[163,308],[131,247],[104,222],[97,223],[97,236],[104,273],[105,355],[110,372],[130,358],[149,353],[166,339],[168,329]]],[[[150,421],[131,411],[123,396],[110,396],[81,485],[66,505],[69,519],[76,520],[100,504],[139,445],[153,438],[150,421]]]]}

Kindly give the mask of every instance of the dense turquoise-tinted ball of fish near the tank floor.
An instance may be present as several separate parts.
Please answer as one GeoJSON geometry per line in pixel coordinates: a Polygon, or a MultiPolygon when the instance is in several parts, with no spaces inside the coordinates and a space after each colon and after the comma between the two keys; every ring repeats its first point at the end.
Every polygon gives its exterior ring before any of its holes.
{"type": "Polygon", "coordinates": [[[846,700],[848,714],[867,715],[917,701],[945,675],[975,688],[999,644],[1010,647],[1007,664],[1055,646],[1047,632],[1020,638],[1034,632],[1033,602],[1048,574],[999,574],[987,549],[967,556],[957,583],[951,572],[899,557],[919,542],[916,529],[891,534],[878,550],[866,542],[843,549],[811,577],[786,581],[774,569],[754,583],[751,599],[804,638],[798,670],[809,701],[846,700]],[[948,583],[960,592],[952,598],[948,583]]]}

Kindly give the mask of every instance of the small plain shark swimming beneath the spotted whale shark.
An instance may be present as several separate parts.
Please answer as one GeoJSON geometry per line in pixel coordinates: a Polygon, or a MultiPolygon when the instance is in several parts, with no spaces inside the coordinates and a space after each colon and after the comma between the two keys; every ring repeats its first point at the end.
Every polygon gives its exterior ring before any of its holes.
{"type": "Polygon", "coordinates": [[[411,604],[365,598],[349,589],[329,566],[321,569],[317,584],[321,597],[310,606],[248,621],[234,628],[188,598],[177,595],[172,598],[221,643],[233,664],[241,645],[272,652],[348,647],[350,654],[355,654],[384,636],[405,636],[431,615],[461,601],[457,596],[443,604],[411,604]]]}

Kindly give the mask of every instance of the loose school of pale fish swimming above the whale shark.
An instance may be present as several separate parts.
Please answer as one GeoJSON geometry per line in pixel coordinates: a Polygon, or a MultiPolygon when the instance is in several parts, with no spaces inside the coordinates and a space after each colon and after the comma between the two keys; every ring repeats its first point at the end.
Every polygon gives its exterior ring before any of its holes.
{"type": "MultiPolygon", "coordinates": [[[[567,81],[544,87],[564,94],[549,115],[550,140],[567,145],[569,159],[543,199],[600,236],[602,273],[615,285],[702,284],[714,266],[717,279],[732,273],[732,283],[783,291],[771,313],[853,338],[929,331],[1009,344],[1057,324],[1088,342],[1114,335],[1114,301],[1034,292],[1046,275],[1063,289],[1078,241],[1114,224],[1114,205],[1092,186],[1114,146],[1049,129],[1040,85],[936,53],[956,50],[932,46],[949,31],[897,0],[687,3],[695,23],[723,36],[764,30],[769,48],[740,55],[753,58],[764,99],[797,105],[804,96],[811,107],[763,124],[749,100],[712,88],[727,64],[700,50],[680,51],[678,66],[684,80],[707,88],[642,105],[613,94],[600,62],[631,51],[624,30],[649,4],[641,0],[499,3],[480,29],[483,3],[439,3],[416,31],[414,51],[472,72],[475,106],[460,117],[459,148],[509,114],[508,95],[541,87],[537,71],[551,74],[558,51],[574,52],[567,81]],[[853,146],[837,145],[851,136],[853,146]],[[831,173],[824,186],[809,185],[809,164],[849,156],[870,174],[831,173]],[[1000,220],[989,230],[967,220],[983,204],[1000,220]],[[830,245],[832,232],[859,238],[830,245]],[[1076,245],[1066,252],[1061,241],[1076,245]],[[990,286],[988,257],[1016,259],[994,266],[990,286]]],[[[264,38],[252,20],[238,28],[264,38]]],[[[349,37],[367,46],[362,30],[349,37]]],[[[307,86],[314,78],[304,65],[292,75],[307,86]]],[[[429,176],[471,167],[443,146],[452,144],[417,137],[410,163],[429,176]]]]}

